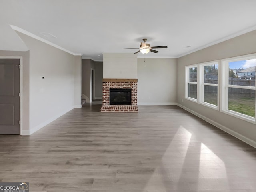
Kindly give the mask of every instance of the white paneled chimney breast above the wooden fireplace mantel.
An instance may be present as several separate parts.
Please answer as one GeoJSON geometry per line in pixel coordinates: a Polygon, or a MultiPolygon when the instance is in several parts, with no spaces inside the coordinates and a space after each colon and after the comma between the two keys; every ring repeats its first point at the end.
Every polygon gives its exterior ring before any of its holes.
{"type": "Polygon", "coordinates": [[[137,79],[137,55],[133,53],[104,53],[104,79],[137,79]]]}

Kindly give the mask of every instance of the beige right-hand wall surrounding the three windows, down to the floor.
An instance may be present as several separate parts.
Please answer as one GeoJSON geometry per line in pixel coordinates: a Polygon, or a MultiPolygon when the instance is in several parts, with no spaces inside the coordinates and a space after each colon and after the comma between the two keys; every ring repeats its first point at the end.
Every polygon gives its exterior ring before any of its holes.
{"type": "Polygon", "coordinates": [[[184,99],[185,66],[256,53],[256,30],[178,58],[177,102],[183,108],[256,147],[256,125],[184,99]]]}

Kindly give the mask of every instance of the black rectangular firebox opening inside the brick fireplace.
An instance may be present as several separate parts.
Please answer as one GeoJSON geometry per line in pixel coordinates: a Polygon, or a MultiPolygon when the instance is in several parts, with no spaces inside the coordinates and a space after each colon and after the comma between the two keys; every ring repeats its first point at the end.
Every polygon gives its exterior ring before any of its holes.
{"type": "Polygon", "coordinates": [[[132,105],[132,89],[109,89],[110,105],[132,105]]]}

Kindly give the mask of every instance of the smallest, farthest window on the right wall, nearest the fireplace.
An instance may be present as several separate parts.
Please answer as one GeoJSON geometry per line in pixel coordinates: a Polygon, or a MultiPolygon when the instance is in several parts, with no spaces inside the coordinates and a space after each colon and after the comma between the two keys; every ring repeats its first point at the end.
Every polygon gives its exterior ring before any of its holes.
{"type": "Polygon", "coordinates": [[[185,98],[197,102],[197,65],[186,66],[185,98]]]}

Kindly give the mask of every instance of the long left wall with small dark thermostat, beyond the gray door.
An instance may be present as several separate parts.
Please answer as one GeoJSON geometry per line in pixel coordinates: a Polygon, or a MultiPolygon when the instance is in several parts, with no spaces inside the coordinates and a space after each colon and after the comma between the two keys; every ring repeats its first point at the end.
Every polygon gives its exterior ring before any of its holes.
{"type": "Polygon", "coordinates": [[[20,32],[17,34],[30,50],[29,134],[32,134],[74,108],[79,64],[76,65],[72,54],[20,32]]]}

